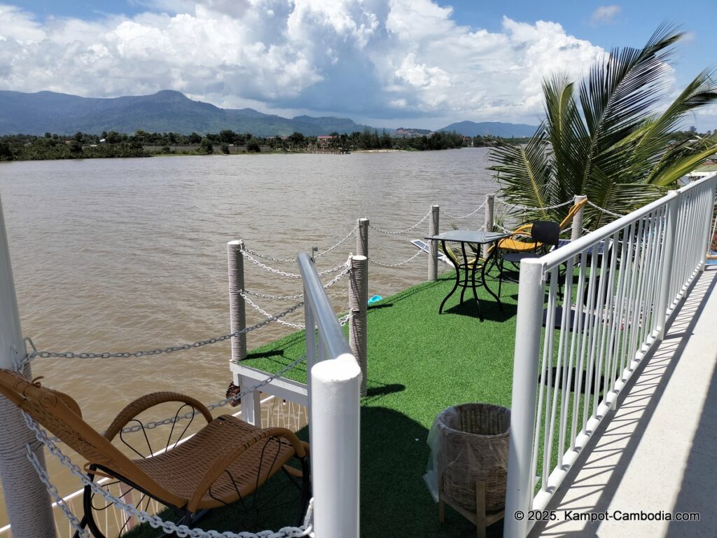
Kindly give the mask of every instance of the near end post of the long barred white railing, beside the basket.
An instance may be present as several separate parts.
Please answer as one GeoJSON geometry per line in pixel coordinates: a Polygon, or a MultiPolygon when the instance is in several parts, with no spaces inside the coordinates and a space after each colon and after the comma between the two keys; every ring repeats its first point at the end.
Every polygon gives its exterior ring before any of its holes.
{"type": "Polygon", "coordinates": [[[544,294],[543,265],[539,260],[523,260],[518,288],[508,485],[503,527],[503,536],[506,538],[525,538],[528,510],[533,499],[531,463],[544,294]],[[523,512],[523,519],[515,517],[518,511],[523,512]]]}

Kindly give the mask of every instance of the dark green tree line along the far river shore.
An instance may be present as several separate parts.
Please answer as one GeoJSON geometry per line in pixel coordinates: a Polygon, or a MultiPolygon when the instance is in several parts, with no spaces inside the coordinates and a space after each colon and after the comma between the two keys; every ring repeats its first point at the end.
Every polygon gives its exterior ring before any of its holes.
{"type": "MultiPolygon", "coordinates": [[[[74,135],[44,133],[0,136],[0,161],[46,159],[92,159],[108,157],[149,157],[156,155],[211,155],[242,153],[339,153],[366,150],[425,151],[463,147],[493,146],[498,138],[462,136],[439,131],[421,136],[391,136],[369,128],[364,131],[331,133],[328,136],[289,136],[262,138],[250,133],[226,130],[219,133],[103,132],[100,135],[77,132],[74,135]]],[[[526,138],[502,139],[521,143],[526,138]]]]}

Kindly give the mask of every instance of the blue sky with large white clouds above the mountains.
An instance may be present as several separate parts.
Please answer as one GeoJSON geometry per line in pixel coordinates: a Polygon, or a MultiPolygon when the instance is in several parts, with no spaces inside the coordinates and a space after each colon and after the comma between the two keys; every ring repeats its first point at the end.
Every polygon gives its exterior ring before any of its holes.
{"type": "MultiPolygon", "coordinates": [[[[88,97],[162,89],[219,106],[376,126],[537,123],[541,78],[577,78],[661,22],[686,33],[675,93],[713,55],[702,0],[0,0],[0,89],[88,97]]],[[[717,110],[687,125],[717,128],[717,110]]]]}

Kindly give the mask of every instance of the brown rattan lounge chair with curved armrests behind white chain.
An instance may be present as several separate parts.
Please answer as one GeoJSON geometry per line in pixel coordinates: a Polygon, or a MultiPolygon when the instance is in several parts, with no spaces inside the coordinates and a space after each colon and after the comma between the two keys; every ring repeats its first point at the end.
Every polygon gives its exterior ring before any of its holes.
{"type": "MultiPolygon", "coordinates": [[[[39,378],[38,378],[39,379],[39,378]]],[[[308,505],[310,478],[308,444],[285,428],[258,428],[232,417],[212,418],[194,398],[177,392],[153,392],[130,403],[117,415],[104,435],[82,420],[75,400],[42,387],[11,370],[0,369],[0,393],[27,412],[37,423],[87,460],[85,471],[115,478],[182,515],[182,523],[196,523],[207,510],[244,499],[282,468],[302,477],[299,516],[308,505]],[[157,456],[130,459],[111,441],[141,412],[163,402],[194,407],[206,426],[183,443],[157,456]],[[285,464],[300,461],[301,471],[285,464]]],[[[85,517],[95,537],[103,538],[92,516],[92,489],[85,487],[85,517]]]]}

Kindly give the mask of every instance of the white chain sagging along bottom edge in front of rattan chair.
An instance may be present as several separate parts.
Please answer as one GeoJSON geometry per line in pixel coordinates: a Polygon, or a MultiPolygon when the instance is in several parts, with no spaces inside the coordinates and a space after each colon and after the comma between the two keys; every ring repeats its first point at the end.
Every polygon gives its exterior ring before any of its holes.
{"type": "MultiPolygon", "coordinates": [[[[306,511],[304,524],[301,527],[283,527],[278,532],[266,530],[260,531],[258,533],[239,532],[237,534],[230,531],[204,531],[203,529],[191,529],[186,525],[177,525],[173,522],[163,521],[158,516],[152,516],[144,510],[138,510],[137,507],[133,504],[125,503],[122,499],[118,499],[118,497],[113,496],[113,494],[110,494],[109,491],[106,491],[105,489],[100,487],[98,483],[95,483],[95,481],[93,481],[89,476],[87,476],[87,474],[82,472],[82,470],[77,465],[75,465],[75,463],[72,463],[72,460],[65,456],[65,454],[62,453],[60,448],[57,448],[57,445],[55,445],[52,440],[49,440],[49,438],[47,438],[47,435],[42,430],[40,430],[37,423],[35,423],[34,420],[29,417],[29,415],[24,414],[24,417],[25,422],[27,423],[27,427],[30,430],[34,431],[37,440],[39,440],[40,443],[44,444],[47,447],[49,453],[51,453],[52,456],[57,458],[63,466],[67,467],[73,476],[79,478],[82,484],[84,484],[85,486],[89,486],[95,494],[103,496],[105,501],[114,504],[115,506],[117,506],[118,509],[125,511],[126,514],[130,514],[130,516],[136,517],[138,522],[148,523],[153,529],[161,528],[162,531],[166,534],[176,533],[177,536],[191,538],[300,538],[305,536],[311,536],[313,534],[313,502],[311,501],[309,502],[309,506],[306,511]]],[[[42,476],[40,478],[42,480],[42,476]]],[[[45,486],[48,486],[49,480],[44,483],[45,486]]]]}

